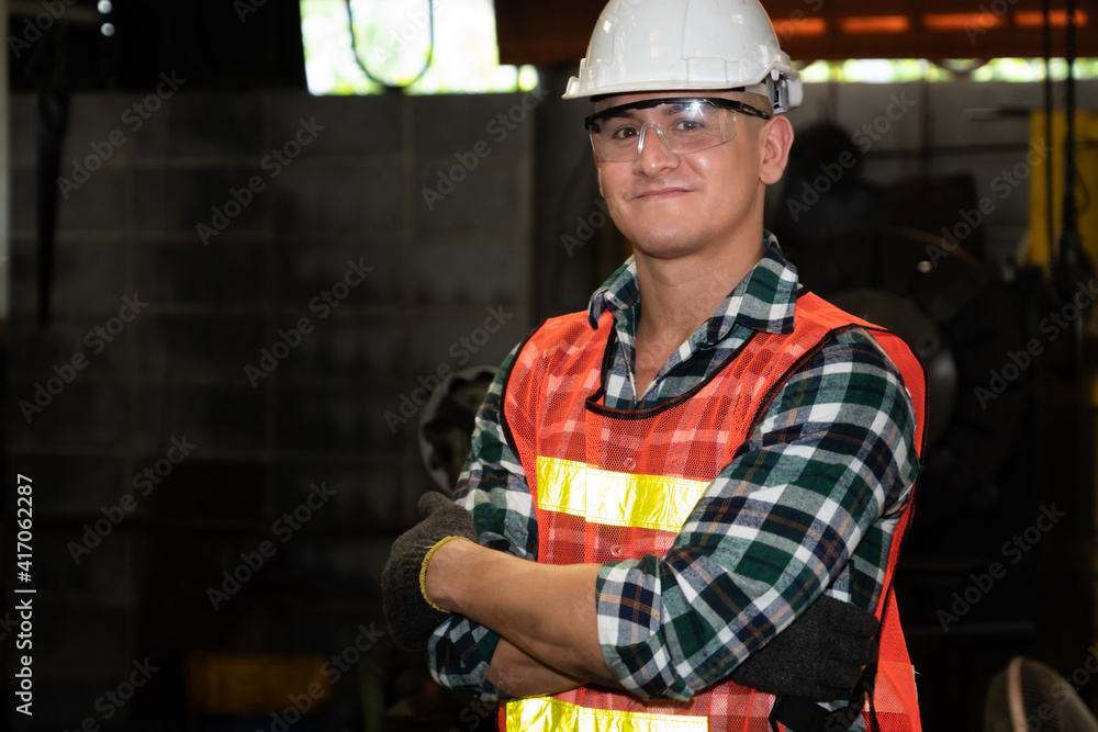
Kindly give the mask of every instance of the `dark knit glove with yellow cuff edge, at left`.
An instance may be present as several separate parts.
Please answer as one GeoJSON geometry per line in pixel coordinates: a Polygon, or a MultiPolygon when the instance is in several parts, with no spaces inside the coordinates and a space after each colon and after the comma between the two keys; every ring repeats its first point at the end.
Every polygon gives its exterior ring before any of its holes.
{"type": "Polygon", "coordinates": [[[432,631],[450,615],[427,597],[424,579],[432,553],[452,539],[477,541],[473,517],[441,493],[419,499],[419,523],[393,542],[381,571],[381,603],[393,640],[421,651],[432,631]]]}

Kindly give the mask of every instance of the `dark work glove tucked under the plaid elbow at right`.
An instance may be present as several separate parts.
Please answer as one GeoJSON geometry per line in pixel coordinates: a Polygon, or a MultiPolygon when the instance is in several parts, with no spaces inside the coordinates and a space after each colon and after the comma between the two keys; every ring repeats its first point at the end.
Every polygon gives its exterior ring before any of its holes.
{"type": "Polygon", "coordinates": [[[778,697],[833,701],[877,660],[877,619],[821,595],[784,631],[736,667],[731,680],[778,697]]]}

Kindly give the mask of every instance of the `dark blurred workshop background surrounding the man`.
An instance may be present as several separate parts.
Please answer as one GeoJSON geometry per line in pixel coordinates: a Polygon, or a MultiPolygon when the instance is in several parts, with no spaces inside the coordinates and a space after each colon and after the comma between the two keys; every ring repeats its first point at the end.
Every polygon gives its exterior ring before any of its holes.
{"type": "MultiPolygon", "coordinates": [[[[379,573],[435,487],[419,420],[440,378],[497,364],[628,254],[586,105],[559,100],[601,3],[495,4],[501,61],[536,66],[534,92],[311,95],[296,2],[7,4],[4,729],[492,728],[385,638],[379,573]],[[502,139],[500,115],[520,120],[502,139]],[[15,588],[36,590],[33,717],[15,588]]],[[[1020,15],[1040,3],[975,19],[978,42],[933,20],[967,9],[929,0],[869,31],[848,23],[875,5],[764,4],[806,61],[1042,55],[1020,15]]],[[[1065,309],[1098,246],[1098,117],[1077,129],[1068,260],[1047,213],[1064,85],[1045,153],[1042,85],[977,67],[808,85],[768,215],[808,286],[931,367],[898,579],[928,730],[977,729],[1015,655],[1069,677],[1098,656],[1093,328],[1065,309]]],[[[1077,95],[1098,105],[1095,81],[1077,95]]]]}

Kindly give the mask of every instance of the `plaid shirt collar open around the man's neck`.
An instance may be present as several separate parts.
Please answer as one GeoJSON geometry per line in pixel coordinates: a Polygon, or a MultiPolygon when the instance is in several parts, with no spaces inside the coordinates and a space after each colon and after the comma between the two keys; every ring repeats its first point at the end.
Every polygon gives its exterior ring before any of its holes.
{"type": "MultiPolygon", "coordinates": [[[[797,302],[797,268],[785,260],[777,238],[764,232],[766,250],[759,263],[729,293],[713,317],[692,336],[697,346],[715,346],[737,323],[763,333],[793,333],[797,302]]],[[[591,297],[587,319],[598,328],[606,312],[636,317],[640,302],[637,263],[629,257],[591,297]]],[[[636,325],[636,324],[634,324],[636,325]]]]}

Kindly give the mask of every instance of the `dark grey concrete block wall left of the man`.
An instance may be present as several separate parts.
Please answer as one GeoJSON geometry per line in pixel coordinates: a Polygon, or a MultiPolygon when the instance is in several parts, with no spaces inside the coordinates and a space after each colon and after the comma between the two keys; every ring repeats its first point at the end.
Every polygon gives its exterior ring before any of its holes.
{"type": "MultiPolygon", "coordinates": [[[[138,127],[143,99],[72,99],[46,328],[36,102],[13,100],[7,429],[38,498],[36,729],[176,729],[188,651],[327,655],[383,628],[381,566],[432,487],[418,414],[385,415],[530,325],[536,99],[184,85],[138,127]],[[451,349],[496,313],[475,352],[451,349]],[[302,509],[312,485],[332,495],[302,509]],[[214,609],[265,540],[277,552],[214,609]],[[97,699],[146,656],[165,671],[107,719],[97,699]]],[[[324,729],[354,717],[344,684],[324,729]]]]}

